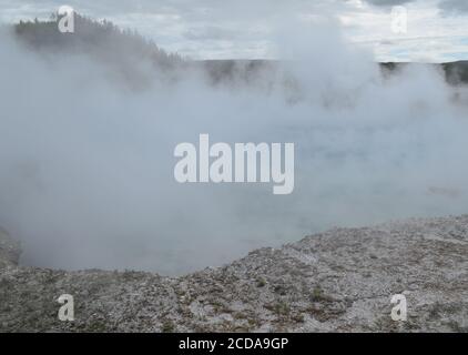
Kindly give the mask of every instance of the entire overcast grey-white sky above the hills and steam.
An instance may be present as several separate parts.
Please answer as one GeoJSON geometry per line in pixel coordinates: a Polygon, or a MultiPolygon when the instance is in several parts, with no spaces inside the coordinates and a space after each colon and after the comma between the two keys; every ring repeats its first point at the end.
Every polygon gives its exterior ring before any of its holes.
{"type": "Polygon", "coordinates": [[[380,61],[468,59],[468,0],[0,0],[0,21],[45,19],[63,4],[193,59],[275,58],[278,30],[323,18],[380,61]],[[406,32],[395,28],[396,6],[406,32]]]}

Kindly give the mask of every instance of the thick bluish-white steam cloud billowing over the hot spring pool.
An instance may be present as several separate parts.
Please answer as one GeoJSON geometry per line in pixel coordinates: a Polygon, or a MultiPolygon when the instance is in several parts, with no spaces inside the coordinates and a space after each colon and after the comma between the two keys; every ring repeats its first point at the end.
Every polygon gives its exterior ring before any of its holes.
{"type": "Polygon", "coordinates": [[[314,33],[279,37],[295,61],[252,85],[213,87],[197,70],[169,83],[141,62],[140,90],[105,63],[2,33],[0,225],[22,239],[23,263],[177,274],[334,225],[466,213],[468,114],[455,89],[418,65],[384,79],[338,33],[314,33]],[[293,194],[176,183],[173,149],[200,133],[295,143],[293,194]]]}

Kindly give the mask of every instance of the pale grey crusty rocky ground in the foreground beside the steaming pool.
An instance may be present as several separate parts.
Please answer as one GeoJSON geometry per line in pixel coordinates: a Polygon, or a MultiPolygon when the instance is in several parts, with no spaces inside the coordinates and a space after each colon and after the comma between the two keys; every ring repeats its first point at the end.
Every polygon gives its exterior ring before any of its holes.
{"type": "Polygon", "coordinates": [[[1,332],[467,332],[468,215],[335,229],[181,277],[18,265],[0,231],[1,332]],[[73,322],[57,298],[74,297],[73,322]],[[407,298],[406,322],[390,297],[407,298]]]}

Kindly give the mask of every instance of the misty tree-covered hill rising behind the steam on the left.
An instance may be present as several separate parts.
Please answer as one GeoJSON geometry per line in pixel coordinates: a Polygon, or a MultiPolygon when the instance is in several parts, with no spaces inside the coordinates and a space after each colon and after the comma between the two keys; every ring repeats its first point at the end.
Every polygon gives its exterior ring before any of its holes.
{"type": "Polygon", "coordinates": [[[136,88],[149,83],[149,65],[167,73],[183,63],[179,54],[167,53],[135,31],[122,30],[105,20],[99,22],[75,14],[73,33],[60,32],[58,22],[57,16],[49,21],[20,21],[14,24],[14,34],[21,43],[44,55],[84,54],[136,88]]]}

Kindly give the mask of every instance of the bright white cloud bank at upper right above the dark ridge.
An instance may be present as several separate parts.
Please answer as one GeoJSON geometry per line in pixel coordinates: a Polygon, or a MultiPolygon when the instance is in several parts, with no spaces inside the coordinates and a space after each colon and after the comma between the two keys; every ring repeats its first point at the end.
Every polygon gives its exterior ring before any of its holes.
{"type": "MultiPolygon", "coordinates": [[[[462,59],[468,30],[465,17],[444,17],[437,1],[413,1],[408,10],[408,31],[393,33],[391,12],[365,4],[342,17],[350,40],[370,47],[380,61],[440,62],[462,59]],[[459,55],[457,55],[459,53],[459,55]]],[[[465,58],[466,59],[466,58],[465,58]]]]}

